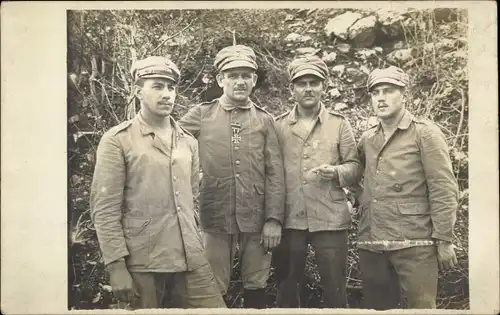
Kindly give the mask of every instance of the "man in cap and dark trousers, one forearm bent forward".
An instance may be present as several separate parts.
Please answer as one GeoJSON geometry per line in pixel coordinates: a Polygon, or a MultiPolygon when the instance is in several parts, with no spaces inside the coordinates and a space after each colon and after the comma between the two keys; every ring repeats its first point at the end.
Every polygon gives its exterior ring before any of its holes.
{"type": "Polygon", "coordinates": [[[285,161],[283,241],[274,252],[280,307],[300,306],[307,245],[314,247],[324,306],[345,308],[351,215],[343,187],[361,176],[349,121],[321,102],[328,67],[317,56],[288,66],[293,109],[276,119],[285,161]]]}

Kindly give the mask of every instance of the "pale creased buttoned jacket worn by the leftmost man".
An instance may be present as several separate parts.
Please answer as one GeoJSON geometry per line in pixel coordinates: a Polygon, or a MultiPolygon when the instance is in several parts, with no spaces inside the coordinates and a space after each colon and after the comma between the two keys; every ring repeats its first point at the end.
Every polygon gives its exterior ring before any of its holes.
{"type": "Polygon", "coordinates": [[[180,272],[207,263],[195,222],[198,144],[171,119],[162,140],[138,114],[104,134],[91,190],[91,214],[105,264],[130,271],[180,272]]]}

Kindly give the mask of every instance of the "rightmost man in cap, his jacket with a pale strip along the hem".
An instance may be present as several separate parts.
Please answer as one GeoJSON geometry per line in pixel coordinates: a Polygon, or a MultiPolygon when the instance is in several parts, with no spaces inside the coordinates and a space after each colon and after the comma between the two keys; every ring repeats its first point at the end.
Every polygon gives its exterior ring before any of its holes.
{"type": "Polygon", "coordinates": [[[448,145],[431,121],[405,109],[408,75],[376,69],[367,87],[378,123],[363,133],[359,258],[364,306],[435,308],[438,266],[457,264],[453,227],[458,185],[448,145]]]}

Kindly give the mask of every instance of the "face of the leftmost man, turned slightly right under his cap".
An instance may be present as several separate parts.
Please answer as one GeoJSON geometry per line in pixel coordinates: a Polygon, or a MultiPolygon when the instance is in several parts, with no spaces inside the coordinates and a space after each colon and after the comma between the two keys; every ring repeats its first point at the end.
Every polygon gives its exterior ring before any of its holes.
{"type": "Polygon", "coordinates": [[[142,86],[138,86],[136,96],[141,100],[145,114],[156,117],[167,117],[172,113],[177,85],[168,79],[145,79],[142,86]]]}

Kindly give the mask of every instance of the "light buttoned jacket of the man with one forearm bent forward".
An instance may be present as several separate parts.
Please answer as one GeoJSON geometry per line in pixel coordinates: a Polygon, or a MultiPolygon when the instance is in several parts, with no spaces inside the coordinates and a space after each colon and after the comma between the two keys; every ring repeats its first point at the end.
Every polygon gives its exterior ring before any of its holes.
{"type": "Polygon", "coordinates": [[[362,171],[351,125],[323,104],[310,133],[296,115],[295,106],[276,119],[285,161],[284,227],[311,232],[348,229],[351,215],[343,187],[358,182],[362,171]],[[337,165],[338,180],[321,180],[312,172],[322,164],[337,165]]]}

